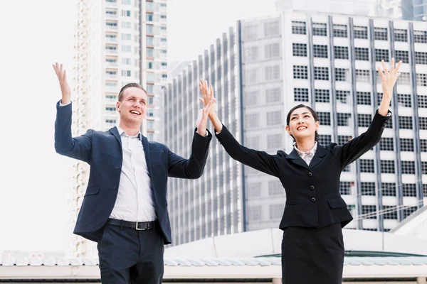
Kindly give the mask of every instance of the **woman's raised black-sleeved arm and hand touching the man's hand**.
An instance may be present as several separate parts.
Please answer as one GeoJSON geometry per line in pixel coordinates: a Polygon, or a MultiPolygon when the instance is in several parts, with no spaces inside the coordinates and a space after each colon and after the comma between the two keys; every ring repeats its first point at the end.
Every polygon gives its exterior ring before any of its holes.
{"type": "MultiPolygon", "coordinates": [[[[201,80],[199,83],[202,97],[200,101],[206,106],[212,99],[214,99],[214,89],[212,85],[208,87],[208,83],[201,80]]],[[[223,126],[218,116],[216,116],[215,108],[211,108],[209,113],[209,119],[211,119],[214,125],[215,135],[218,138],[219,143],[222,144],[228,155],[234,160],[238,160],[244,165],[248,165],[255,170],[260,170],[263,173],[274,175],[278,177],[279,169],[277,163],[275,163],[275,155],[269,155],[263,151],[255,151],[253,149],[241,146],[238,141],[231,135],[231,133],[223,126]]]]}

